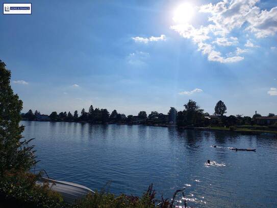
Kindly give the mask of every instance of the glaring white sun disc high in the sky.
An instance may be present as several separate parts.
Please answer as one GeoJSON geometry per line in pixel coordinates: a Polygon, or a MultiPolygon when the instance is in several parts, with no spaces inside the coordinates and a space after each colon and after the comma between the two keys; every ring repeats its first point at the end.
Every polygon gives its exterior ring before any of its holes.
{"type": "Polygon", "coordinates": [[[173,20],[179,24],[187,23],[193,16],[193,7],[189,3],[184,3],[180,5],[174,11],[173,20]]]}

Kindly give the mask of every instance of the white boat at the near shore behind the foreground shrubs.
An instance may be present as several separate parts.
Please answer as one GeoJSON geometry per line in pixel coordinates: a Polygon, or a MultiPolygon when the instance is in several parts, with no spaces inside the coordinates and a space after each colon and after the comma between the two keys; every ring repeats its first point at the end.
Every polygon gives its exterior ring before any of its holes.
{"type": "Polygon", "coordinates": [[[37,181],[37,184],[40,184],[42,186],[45,182],[49,184],[49,188],[51,190],[60,193],[64,201],[68,203],[73,203],[78,199],[82,199],[88,193],[95,193],[91,189],[77,183],[62,180],[54,180],[46,177],[41,177],[37,181]]]}

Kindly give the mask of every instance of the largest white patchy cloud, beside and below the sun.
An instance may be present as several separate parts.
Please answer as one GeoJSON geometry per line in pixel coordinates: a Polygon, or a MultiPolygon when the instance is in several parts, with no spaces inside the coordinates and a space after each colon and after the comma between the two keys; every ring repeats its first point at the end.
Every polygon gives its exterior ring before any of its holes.
{"type": "MultiPolygon", "coordinates": [[[[173,25],[170,28],[184,38],[192,39],[198,50],[206,54],[208,60],[221,63],[237,62],[244,59],[239,56],[246,50],[221,55],[217,45],[230,47],[238,44],[238,37],[231,36],[233,30],[240,30],[247,37],[253,33],[257,38],[277,33],[277,7],[270,11],[256,6],[259,0],[223,0],[217,4],[207,4],[198,7],[198,12],[208,14],[207,26],[195,28],[189,24],[173,25]],[[233,54],[233,57],[228,57],[233,54]],[[235,54],[235,55],[234,55],[235,54]]],[[[242,37],[244,37],[242,35],[242,37]]],[[[245,47],[258,47],[247,40],[245,47]]]]}

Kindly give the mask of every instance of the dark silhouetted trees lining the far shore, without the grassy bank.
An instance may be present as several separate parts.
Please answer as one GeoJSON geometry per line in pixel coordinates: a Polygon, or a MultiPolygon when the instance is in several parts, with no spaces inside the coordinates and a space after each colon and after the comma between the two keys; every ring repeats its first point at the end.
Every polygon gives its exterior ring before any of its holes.
{"type": "MultiPolygon", "coordinates": [[[[253,117],[242,117],[242,115],[224,116],[227,107],[221,100],[215,105],[214,114],[204,112],[204,109],[193,100],[189,100],[184,104],[184,110],[177,111],[176,108],[170,107],[167,114],[152,111],[147,115],[146,111],[140,111],[137,115],[128,115],[118,113],[113,110],[111,113],[107,109],[93,108],[91,105],[88,111],[82,109],[80,115],[77,110],[73,113],[70,111],[60,112],[53,111],[49,115],[49,120],[53,122],[86,122],[86,123],[139,123],[139,124],[157,124],[157,125],[176,125],[183,127],[207,127],[207,126],[232,126],[232,125],[253,125],[254,119],[260,114],[255,114],[253,117]]],[[[39,111],[30,109],[22,117],[27,120],[39,120],[42,115],[39,111]]],[[[269,113],[269,116],[274,116],[269,113]]]]}

